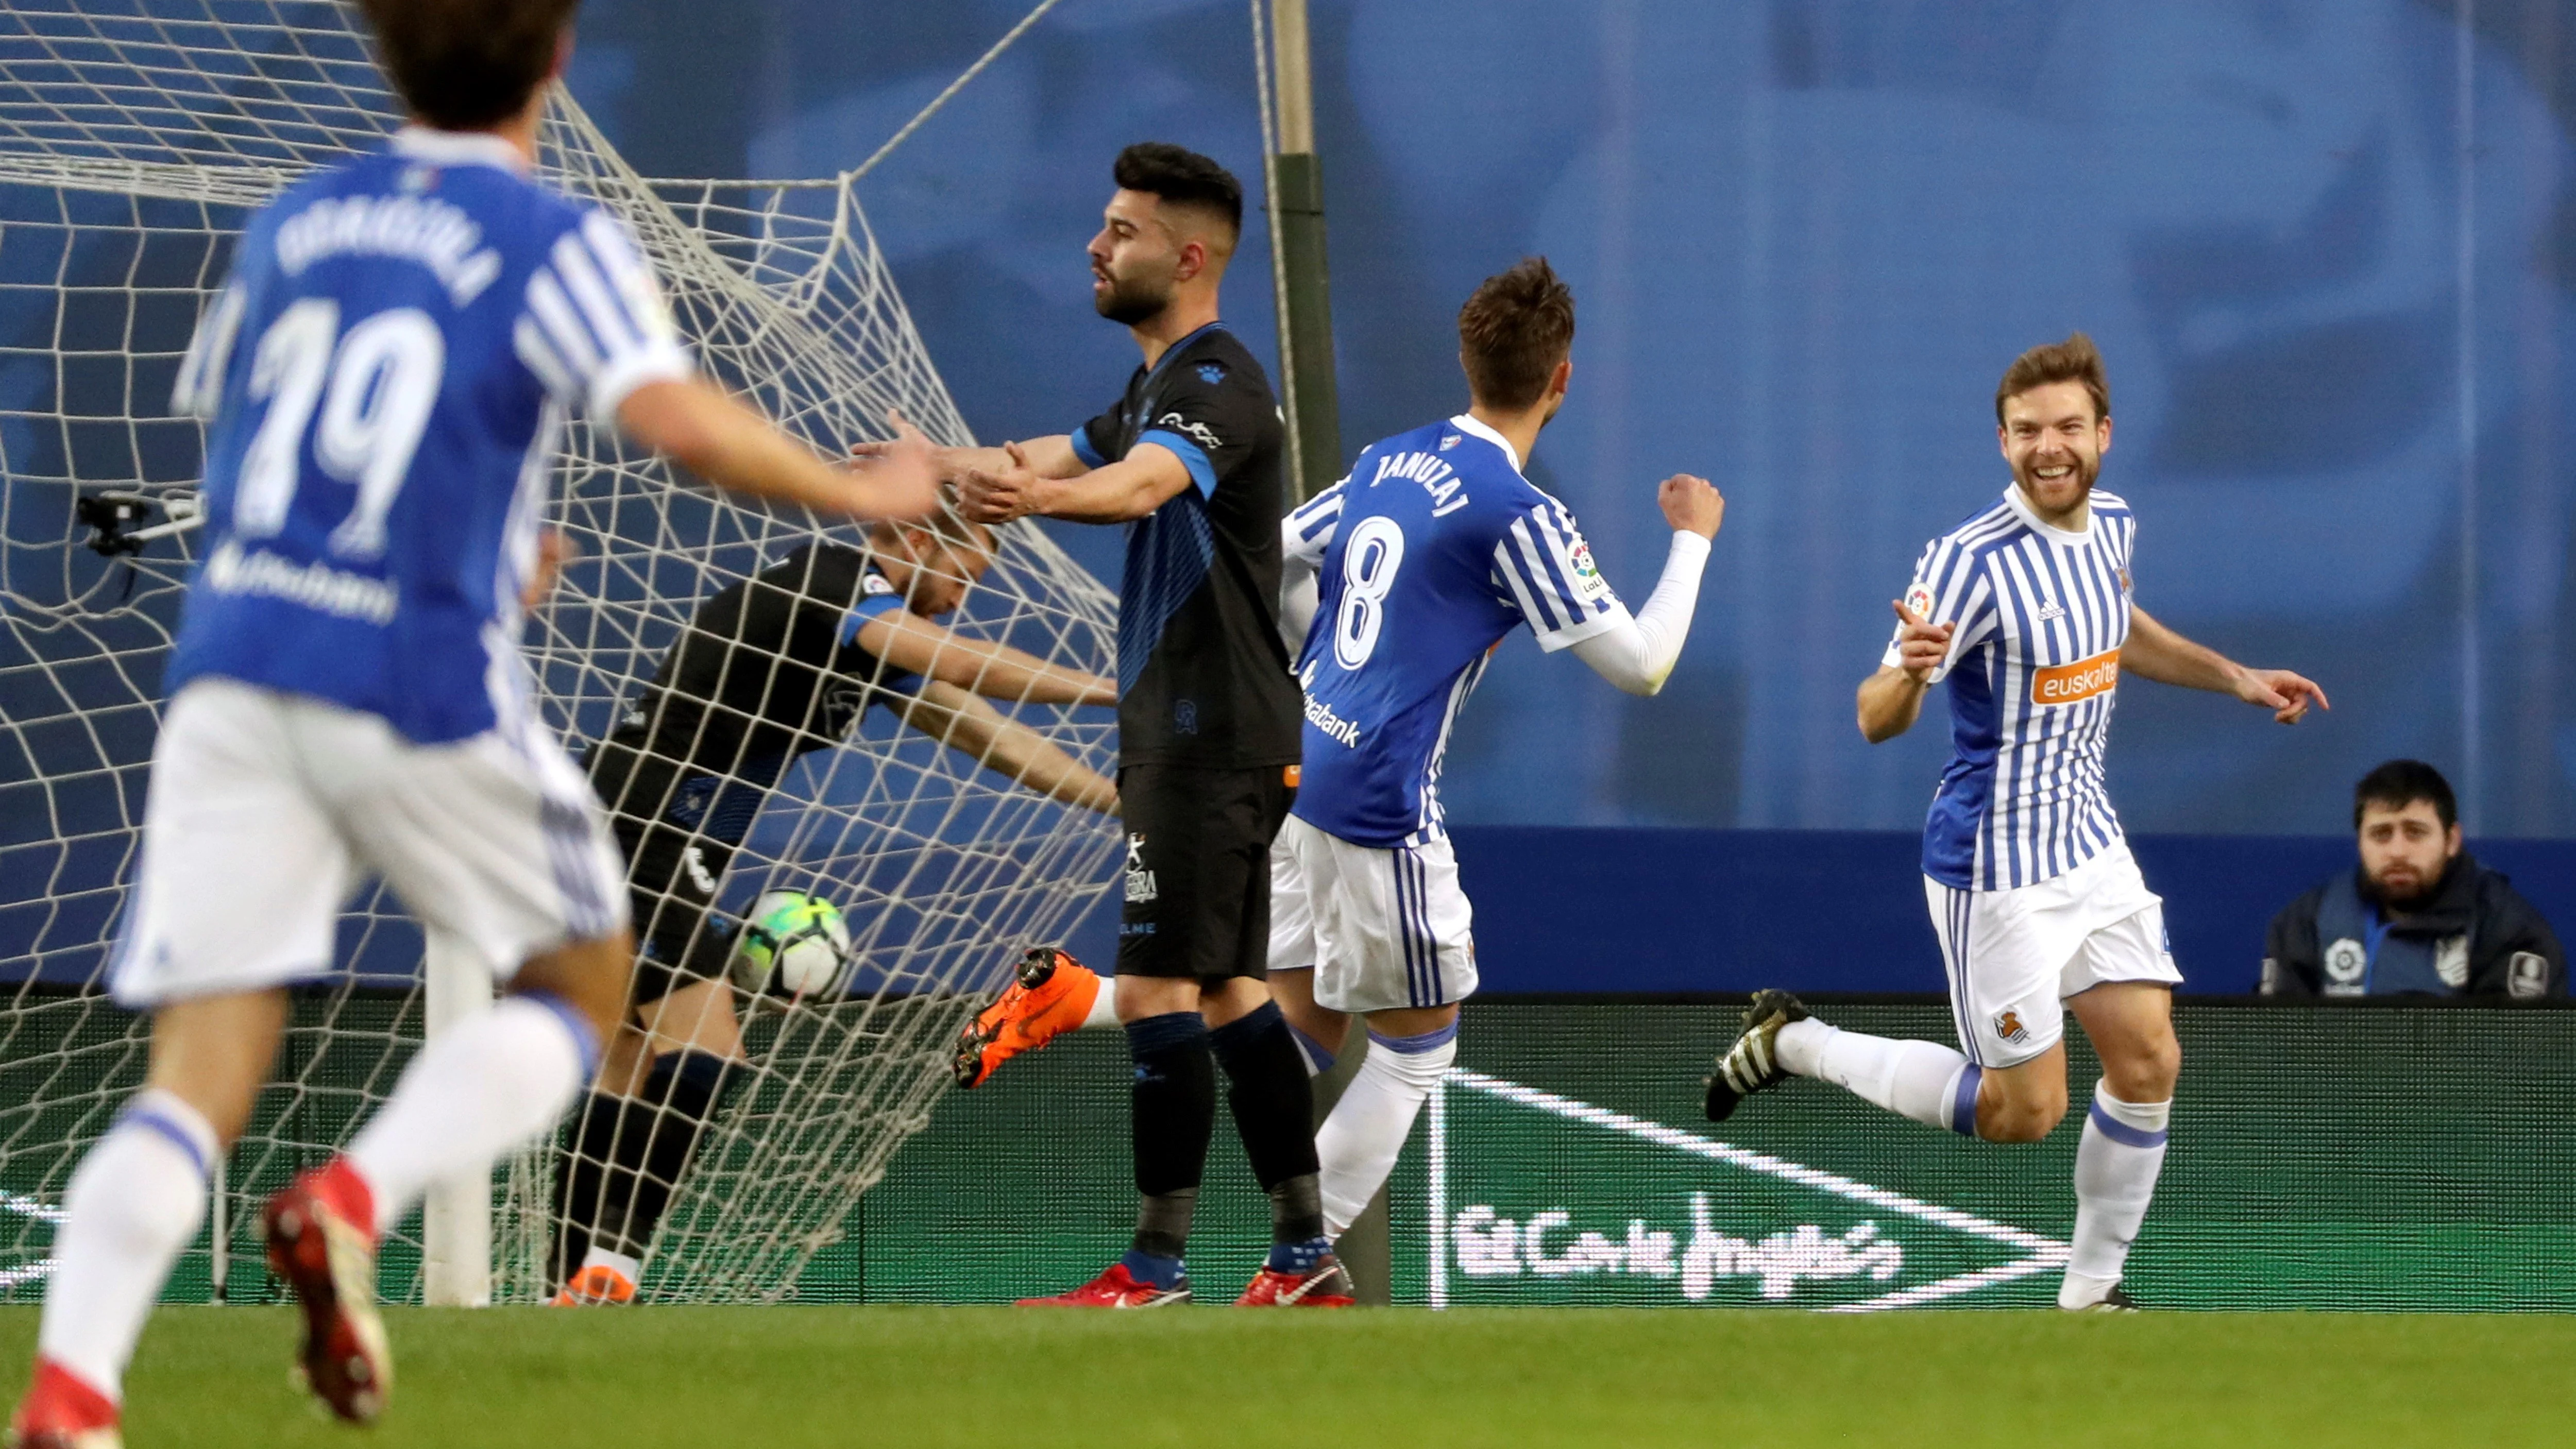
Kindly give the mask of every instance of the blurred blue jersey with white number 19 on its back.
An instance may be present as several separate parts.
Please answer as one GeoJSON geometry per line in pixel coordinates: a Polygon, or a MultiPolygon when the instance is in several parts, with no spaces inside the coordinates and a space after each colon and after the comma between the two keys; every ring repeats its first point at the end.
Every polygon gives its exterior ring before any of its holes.
{"type": "Polygon", "coordinates": [[[518,718],[520,589],[564,417],[616,427],[688,350],[608,214],[500,136],[404,129],[242,232],[173,409],[206,558],[167,687],[222,674],[420,744],[518,718]]]}

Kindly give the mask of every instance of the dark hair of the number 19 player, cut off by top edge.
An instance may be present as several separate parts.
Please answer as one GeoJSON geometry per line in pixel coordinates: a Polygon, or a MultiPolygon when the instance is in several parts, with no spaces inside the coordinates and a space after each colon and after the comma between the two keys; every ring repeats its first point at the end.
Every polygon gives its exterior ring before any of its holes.
{"type": "Polygon", "coordinates": [[[582,0],[358,0],[384,75],[440,131],[482,131],[536,95],[582,0]]]}

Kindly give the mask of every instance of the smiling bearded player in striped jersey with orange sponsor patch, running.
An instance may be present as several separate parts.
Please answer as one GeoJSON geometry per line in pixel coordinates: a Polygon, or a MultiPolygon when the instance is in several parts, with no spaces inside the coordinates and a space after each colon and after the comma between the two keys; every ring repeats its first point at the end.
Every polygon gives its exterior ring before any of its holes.
{"type": "Polygon", "coordinates": [[[2110,450],[2102,355],[2076,332],[2022,353],[1994,391],[2012,486],[1935,538],[1896,602],[1896,638],[1860,685],[1870,744],[1914,726],[1950,682],[1950,767],[1924,821],[1924,898],[1950,973],[1955,1053],[1842,1032],[1759,991],[1708,1078],[1726,1120],[1785,1076],[1814,1076],[1968,1138],[2038,1143],[2066,1117],[2066,1014],[2102,1055],[2076,1148],[2076,1230],[2058,1307],[2136,1307],[2128,1246],[2164,1166],[2182,1048],[2164,903],[2102,788],[2120,672],[2236,695],[2298,723],[2324,690],[2246,669],[2130,605],[2128,504],[2094,489],[2110,450]]]}

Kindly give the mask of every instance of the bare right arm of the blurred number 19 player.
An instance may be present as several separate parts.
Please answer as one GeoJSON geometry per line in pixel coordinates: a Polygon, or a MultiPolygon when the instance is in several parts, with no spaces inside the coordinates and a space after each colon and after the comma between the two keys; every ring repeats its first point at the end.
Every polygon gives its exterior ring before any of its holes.
{"type": "Polygon", "coordinates": [[[837,468],[703,378],[652,381],[618,404],[618,427],[719,489],[845,517],[925,517],[940,507],[930,440],[907,422],[853,468],[837,468]]]}

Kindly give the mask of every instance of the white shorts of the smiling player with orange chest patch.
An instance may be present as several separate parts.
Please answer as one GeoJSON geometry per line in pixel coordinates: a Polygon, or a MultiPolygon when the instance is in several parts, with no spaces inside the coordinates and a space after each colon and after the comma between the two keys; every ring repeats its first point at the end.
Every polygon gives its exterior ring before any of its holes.
{"type": "Polygon", "coordinates": [[[2164,898],[2146,888],[2128,842],[2066,875],[2012,891],[1960,891],[1924,878],[1932,932],[1950,968],[1950,1017],[1976,1066],[2020,1066],[2066,1037],[2061,1001],[2105,981],[2179,986],[2164,898]]]}

